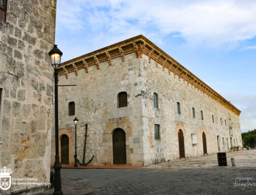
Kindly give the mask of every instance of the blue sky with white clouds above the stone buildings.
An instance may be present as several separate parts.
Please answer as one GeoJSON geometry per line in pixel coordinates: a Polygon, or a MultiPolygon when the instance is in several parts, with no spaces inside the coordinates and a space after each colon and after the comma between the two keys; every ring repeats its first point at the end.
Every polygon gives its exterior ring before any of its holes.
{"type": "Polygon", "coordinates": [[[57,0],[62,61],[143,34],[256,129],[256,0],[57,0]]]}

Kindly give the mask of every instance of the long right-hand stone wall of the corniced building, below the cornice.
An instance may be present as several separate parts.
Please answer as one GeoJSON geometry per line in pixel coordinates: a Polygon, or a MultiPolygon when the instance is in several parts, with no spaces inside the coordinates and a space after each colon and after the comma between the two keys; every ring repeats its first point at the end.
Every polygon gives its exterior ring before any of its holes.
{"type": "Polygon", "coordinates": [[[168,159],[179,159],[178,131],[180,129],[184,134],[185,157],[203,155],[203,132],[206,135],[208,154],[219,151],[217,136],[221,139],[221,151],[227,151],[227,147],[230,148],[230,137],[237,139],[237,143],[232,143],[233,146],[242,147],[239,116],[225,109],[183,79],[174,77],[173,73],[169,75],[168,69],[165,68],[162,71],[162,65],[158,64],[156,67],[155,60],[149,63],[148,56],[143,55],[140,58],[140,66],[143,67],[140,74],[143,78],[141,93],[144,94],[142,121],[146,165],[168,159]],[[153,106],[153,93],[158,94],[159,108],[153,106]],[[177,102],[180,103],[181,114],[177,113],[177,102]],[[195,109],[195,118],[192,117],[192,107],[195,109]],[[203,111],[203,120],[201,111],[203,111]],[[212,115],[214,115],[214,123],[212,115]],[[223,124],[221,124],[221,118],[223,124]],[[229,135],[229,118],[231,123],[236,123],[232,136],[229,135]],[[154,138],[154,124],[160,124],[160,140],[154,138]],[[192,144],[192,134],[196,135],[196,144],[192,144]],[[228,146],[226,140],[228,140],[228,146]]]}

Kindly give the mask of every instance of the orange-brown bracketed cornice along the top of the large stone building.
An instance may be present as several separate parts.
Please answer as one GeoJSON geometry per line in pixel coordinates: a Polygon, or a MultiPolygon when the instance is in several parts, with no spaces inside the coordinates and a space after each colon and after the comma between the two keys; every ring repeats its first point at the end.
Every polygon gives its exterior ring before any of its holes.
{"type": "Polygon", "coordinates": [[[104,61],[108,61],[111,66],[114,58],[121,57],[122,61],[125,61],[125,55],[134,52],[137,57],[142,57],[142,54],[147,55],[149,63],[151,59],[154,59],[156,61],[156,66],[159,64],[162,65],[163,71],[167,68],[169,74],[172,72],[174,77],[177,76],[179,80],[183,79],[184,83],[186,81],[188,85],[194,86],[198,91],[200,90],[202,93],[205,93],[213,101],[219,103],[221,106],[238,116],[240,115],[241,111],[143,35],[138,35],[89,54],[65,61],[59,68],[59,75],[65,75],[66,78],[68,78],[68,73],[75,71],[77,76],[77,71],[83,68],[86,70],[85,73],[88,73],[88,67],[96,65],[97,69],[100,69],[99,64],[104,61]]]}

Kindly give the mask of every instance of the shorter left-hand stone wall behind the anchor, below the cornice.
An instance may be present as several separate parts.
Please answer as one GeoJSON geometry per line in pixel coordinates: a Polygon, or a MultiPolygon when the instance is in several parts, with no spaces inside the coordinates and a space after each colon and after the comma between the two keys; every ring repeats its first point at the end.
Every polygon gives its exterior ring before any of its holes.
{"type": "MultiPolygon", "coordinates": [[[[127,164],[142,165],[142,145],[133,143],[133,138],[142,135],[141,120],[141,76],[139,59],[135,54],[126,55],[125,61],[121,57],[112,59],[112,65],[108,62],[100,63],[99,70],[96,66],[90,66],[88,73],[85,69],[78,70],[59,77],[59,84],[77,84],[77,86],[64,86],[59,88],[59,133],[60,142],[63,134],[69,138],[73,132],[73,119],[78,118],[77,126],[77,155],[79,161],[83,159],[85,126],[88,124],[88,137],[86,145],[86,162],[95,155],[92,165],[113,164],[112,133],[121,128],[126,132],[127,164]],[[128,106],[117,108],[117,95],[119,92],[128,93],[128,106]],[[68,115],[68,103],[75,102],[75,115],[68,115]],[[69,130],[72,128],[72,130],[69,130]]],[[[54,131],[53,131],[54,134],[54,131]]],[[[54,135],[52,136],[54,138],[54,135]]],[[[70,139],[69,164],[74,162],[74,140],[70,139]]],[[[54,149],[52,140],[52,151],[54,149]]],[[[60,149],[61,151],[61,149],[60,149]]],[[[61,152],[60,152],[61,155],[61,152]]],[[[54,164],[54,152],[52,152],[54,164]]]]}

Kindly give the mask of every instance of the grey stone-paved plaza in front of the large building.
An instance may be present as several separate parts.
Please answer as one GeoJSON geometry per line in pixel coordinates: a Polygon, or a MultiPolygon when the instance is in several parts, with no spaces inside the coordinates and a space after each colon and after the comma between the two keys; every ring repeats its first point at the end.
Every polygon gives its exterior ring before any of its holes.
{"type": "Polygon", "coordinates": [[[171,167],[63,168],[62,186],[64,195],[255,195],[256,150],[227,153],[227,160],[227,167],[217,166],[215,154],[175,161],[171,167]],[[230,158],[236,167],[231,167],[230,158]]]}

